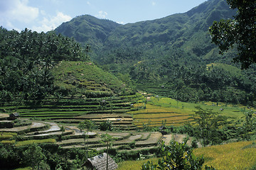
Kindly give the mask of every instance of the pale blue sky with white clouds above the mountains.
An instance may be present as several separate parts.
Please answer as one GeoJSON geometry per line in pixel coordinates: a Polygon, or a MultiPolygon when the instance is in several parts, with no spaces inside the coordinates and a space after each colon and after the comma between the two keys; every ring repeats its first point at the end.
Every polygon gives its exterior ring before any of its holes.
{"type": "Polygon", "coordinates": [[[0,0],[0,26],[47,32],[75,16],[89,14],[117,23],[184,13],[206,0],[0,0]]]}

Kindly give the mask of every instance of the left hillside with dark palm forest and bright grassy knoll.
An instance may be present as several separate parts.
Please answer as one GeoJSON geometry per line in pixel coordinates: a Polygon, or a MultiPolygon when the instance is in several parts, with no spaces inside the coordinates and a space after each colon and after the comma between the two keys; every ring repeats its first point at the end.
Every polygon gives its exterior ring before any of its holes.
{"type": "Polygon", "coordinates": [[[52,32],[18,33],[0,27],[0,105],[131,93],[117,77],[92,63],[75,40],[52,32]]]}

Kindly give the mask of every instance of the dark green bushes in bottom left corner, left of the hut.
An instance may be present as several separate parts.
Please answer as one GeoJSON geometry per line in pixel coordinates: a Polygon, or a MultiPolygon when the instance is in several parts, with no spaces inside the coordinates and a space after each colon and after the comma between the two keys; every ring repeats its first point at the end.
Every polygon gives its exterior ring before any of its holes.
{"type": "MultiPolygon", "coordinates": [[[[27,169],[78,169],[84,164],[85,150],[70,149],[65,152],[60,147],[46,147],[31,144],[26,147],[13,147],[0,145],[1,169],[15,169],[27,167],[27,169]],[[70,162],[73,159],[73,162],[70,162]]],[[[90,151],[88,157],[94,157],[95,151],[90,151]]]]}

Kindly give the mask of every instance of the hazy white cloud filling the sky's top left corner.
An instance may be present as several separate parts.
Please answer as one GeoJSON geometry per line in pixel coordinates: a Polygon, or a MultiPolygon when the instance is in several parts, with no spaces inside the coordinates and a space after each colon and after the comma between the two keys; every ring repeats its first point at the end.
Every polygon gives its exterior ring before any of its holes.
{"type": "Polygon", "coordinates": [[[0,1],[0,22],[6,26],[16,22],[30,23],[38,13],[38,8],[28,6],[28,0],[0,1]]]}

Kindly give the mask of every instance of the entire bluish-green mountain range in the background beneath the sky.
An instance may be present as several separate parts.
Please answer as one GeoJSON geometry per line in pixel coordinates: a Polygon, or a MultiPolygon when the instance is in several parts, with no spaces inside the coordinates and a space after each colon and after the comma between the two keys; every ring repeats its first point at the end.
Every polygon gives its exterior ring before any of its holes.
{"type": "Polygon", "coordinates": [[[92,56],[96,53],[98,62],[112,49],[142,47],[148,50],[152,45],[181,48],[191,55],[210,58],[215,57],[216,52],[212,51],[215,46],[210,43],[209,26],[213,21],[234,15],[235,11],[225,0],[208,0],[186,13],[126,25],[88,15],[78,16],[60,25],[55,32],[90,44],[92,56]]]}

